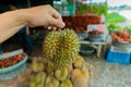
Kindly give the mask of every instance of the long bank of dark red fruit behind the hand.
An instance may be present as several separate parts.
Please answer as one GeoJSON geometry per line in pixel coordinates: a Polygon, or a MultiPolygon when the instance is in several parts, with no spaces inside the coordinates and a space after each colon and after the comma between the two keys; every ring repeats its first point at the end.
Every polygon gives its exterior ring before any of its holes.
{"type": "Polygon", "coordinates": [[[62,16],[66,27],[73,28],[78,34],[84,33],[87,25],[100,24],[100,16],[92,13],[75,16],[62,16]]]}

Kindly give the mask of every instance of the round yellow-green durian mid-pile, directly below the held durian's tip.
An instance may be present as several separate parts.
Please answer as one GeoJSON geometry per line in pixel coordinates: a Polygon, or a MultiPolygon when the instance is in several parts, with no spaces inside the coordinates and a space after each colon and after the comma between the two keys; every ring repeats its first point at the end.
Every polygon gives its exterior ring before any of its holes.
{"type": "Polygon", "coordinates": [[[64,80],[68,77],[68,69],[63,67],[63,69],[56,70],[55,77],[58,80],[64,80]]]}

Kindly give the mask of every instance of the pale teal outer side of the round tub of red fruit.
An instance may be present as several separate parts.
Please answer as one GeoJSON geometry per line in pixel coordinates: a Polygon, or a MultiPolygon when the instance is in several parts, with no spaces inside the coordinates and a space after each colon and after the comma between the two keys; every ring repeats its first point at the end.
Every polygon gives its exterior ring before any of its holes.
{"type": "Polygon", "coordinates": [[[0,80],[11,79],[16,77],[21,72],[25,70],[26,61],[27,61],[27,54],[25,54],[25,58],[15,65],[5,69],[0,69],[0,80]]]}

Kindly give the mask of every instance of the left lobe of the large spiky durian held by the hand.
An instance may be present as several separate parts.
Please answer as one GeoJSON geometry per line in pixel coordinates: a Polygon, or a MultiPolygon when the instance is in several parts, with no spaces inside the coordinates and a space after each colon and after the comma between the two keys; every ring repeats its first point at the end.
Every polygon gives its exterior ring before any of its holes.
{"type": "Polygon", "coordinates": [[[59,49],[60,45],[59,39],[60,39],[59,32],[52,30],[46,35],[43,44],[44,58],[52,61],[55,55],[57,55],[57,50],[59,49]]]}

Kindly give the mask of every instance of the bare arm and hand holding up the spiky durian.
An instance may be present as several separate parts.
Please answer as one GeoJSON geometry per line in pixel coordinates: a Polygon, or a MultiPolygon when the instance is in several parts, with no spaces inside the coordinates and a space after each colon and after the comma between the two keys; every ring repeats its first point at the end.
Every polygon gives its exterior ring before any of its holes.
{"type": "Polygon", "coordinates": [[[57,29],[66,25],[61,15],[50,5],[9,11],[0,14],[0,44],[24,26],[57,29]]]}

